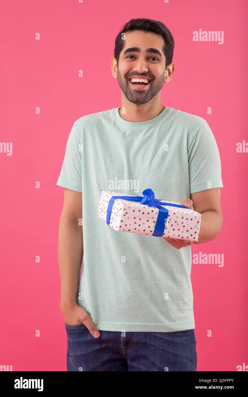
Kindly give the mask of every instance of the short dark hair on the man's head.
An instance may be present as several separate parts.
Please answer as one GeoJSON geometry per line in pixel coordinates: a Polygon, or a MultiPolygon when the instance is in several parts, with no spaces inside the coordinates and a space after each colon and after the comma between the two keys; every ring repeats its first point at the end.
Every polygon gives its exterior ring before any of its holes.
{"type": "Polygon", "coordinates": [[[143,32],[156,33],[163,37],[165,44],[163,46],[163,53],[165,54],[166,67],[172,62],[173,50],[174,50],[174,39],[169,29],[160,21],[154,21],[153,19],[137,18],[130,19],[127,22],[120,33],[116,36],[114,46],[114,58],[116,58],[117,65],[120,56],[120,52],[124,47],[124,40],[122,40],[122,33],[130,32],[133,30],[142,30],[143,32]]]}

